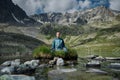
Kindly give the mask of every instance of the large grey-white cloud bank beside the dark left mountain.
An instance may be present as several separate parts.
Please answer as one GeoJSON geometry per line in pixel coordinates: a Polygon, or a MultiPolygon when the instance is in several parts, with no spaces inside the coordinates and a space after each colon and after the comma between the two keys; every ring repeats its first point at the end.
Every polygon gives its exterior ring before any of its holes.
{"type": "Polygon", "coordinates": [[[18,4],[28,15],[41,12],[64,12],[75,9],[78,5],[76,0],[12,0],[18,4]]]}

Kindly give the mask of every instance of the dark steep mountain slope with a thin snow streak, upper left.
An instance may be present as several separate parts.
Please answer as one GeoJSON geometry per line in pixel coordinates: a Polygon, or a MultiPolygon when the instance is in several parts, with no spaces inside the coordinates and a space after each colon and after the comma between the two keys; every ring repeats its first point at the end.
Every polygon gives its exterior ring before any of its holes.
{"type": "Polygon", "coordinates": [[[34,24],[36,21],[29,18],[12,0],[0,0],[0,23],[34,24]]]}

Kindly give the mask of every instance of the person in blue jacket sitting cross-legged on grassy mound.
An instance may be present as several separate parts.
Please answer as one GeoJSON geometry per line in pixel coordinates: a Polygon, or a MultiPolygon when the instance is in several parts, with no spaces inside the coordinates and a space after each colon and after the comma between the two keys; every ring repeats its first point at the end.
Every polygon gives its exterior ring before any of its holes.
{"type": "Polygon", "coordinates": [[[60,32],[56,33],[56,38],[52,42],[52,50],[54,51],[64,50],[65,52],[67,52],[64,40],[60,38],[60,32]]]}

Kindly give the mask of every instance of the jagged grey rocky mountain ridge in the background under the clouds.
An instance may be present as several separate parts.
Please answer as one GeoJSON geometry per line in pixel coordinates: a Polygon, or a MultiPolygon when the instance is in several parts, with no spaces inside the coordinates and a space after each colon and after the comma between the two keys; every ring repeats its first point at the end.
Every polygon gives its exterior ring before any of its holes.
{"type": "Polygon", "coordinates": [[[112,21],[116,16],[115,13],[118,14],[117,12],[106,8],[105,6],[99,6],[93,9],[76,11],[73,13],[42,13],[39,15],[33,15],[31,18],[41,23],[84,25],[93,22],[112,21]]]}

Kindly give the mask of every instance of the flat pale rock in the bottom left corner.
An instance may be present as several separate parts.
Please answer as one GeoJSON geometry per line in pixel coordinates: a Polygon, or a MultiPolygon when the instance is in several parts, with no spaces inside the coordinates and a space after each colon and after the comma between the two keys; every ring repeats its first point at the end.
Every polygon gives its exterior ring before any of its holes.
{"type": "Polygon", "coordinates": [[[35,80],[33,76],[26,75],[2,75],[0,80],[35,80]]]}

